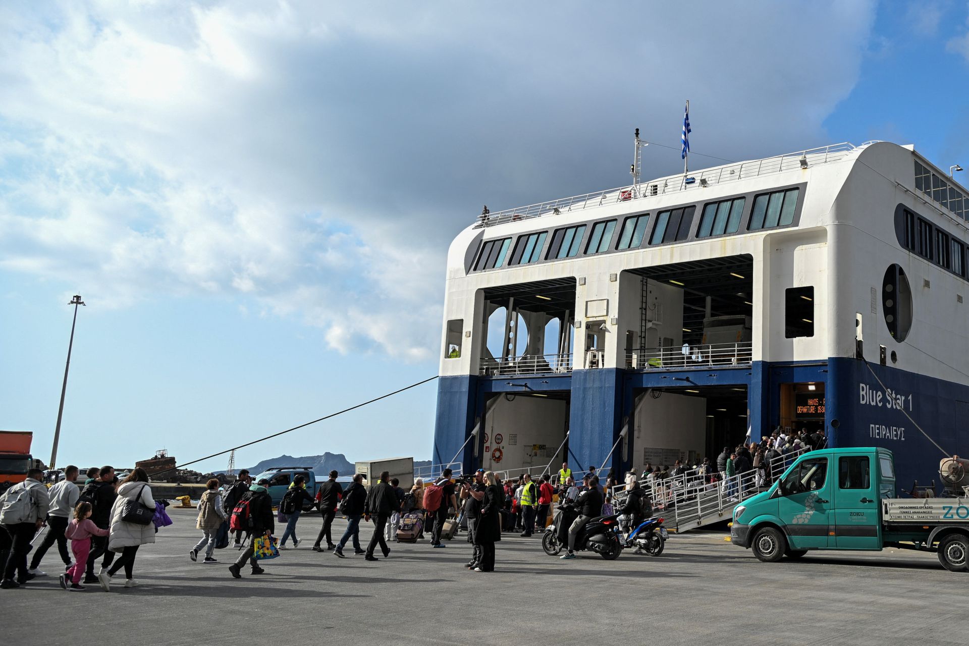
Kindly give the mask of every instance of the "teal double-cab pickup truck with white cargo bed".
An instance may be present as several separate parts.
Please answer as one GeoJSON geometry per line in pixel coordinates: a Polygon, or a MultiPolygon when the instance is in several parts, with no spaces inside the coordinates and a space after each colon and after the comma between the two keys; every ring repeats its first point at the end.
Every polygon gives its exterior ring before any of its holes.
{"type": "Polygon", "coordinates": [[[969,570],[969,498],[895,498],[886,448],[804,453],[766,491],[734,508],[731,541],[761,561],[809,550],[938,553],[946,569],[969,570]]]}

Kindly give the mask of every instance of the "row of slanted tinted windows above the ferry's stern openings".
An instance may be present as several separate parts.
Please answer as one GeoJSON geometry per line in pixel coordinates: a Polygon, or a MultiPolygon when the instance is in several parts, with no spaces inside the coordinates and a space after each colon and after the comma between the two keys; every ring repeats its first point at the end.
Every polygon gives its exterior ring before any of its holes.
{"type": "MultiPolygon", "coordinates": [[[[747,223],[747,231],[787,227],[793,224],[799,191],[800,189],[793,188],[756,196],[750,221],[747,223]]],[[[704,204],[697,237],[736,233],[740,228],[745,204],[746,198],[711,201],[704,204]]],[[[687,239],[690,236],[695,212],[696,206],[683,206],[657,213],[652,232],[648,236],[648,244],[664,244],[687,239]]],[[[613,249],[615,251],[638,249],[646,238],[649,213],[631,215],[623,220],[622,228],[613,244],[616,224],[618,220],[607,220],[592,225],[592,231],[589,232],[588,241],[585,243],[584,255],[601,254],[613,249]]],[[[575,225],[553,231],[544,260],[552,261],[578,256],[587,227],[588,225],[575,225]]],[[[548,231],[519,235],[511,255],[509,255],[509,248],[512,245],[512,238],[487,240],[482,245],[474,270],[541,261],[547,237],[548,231]]]]}

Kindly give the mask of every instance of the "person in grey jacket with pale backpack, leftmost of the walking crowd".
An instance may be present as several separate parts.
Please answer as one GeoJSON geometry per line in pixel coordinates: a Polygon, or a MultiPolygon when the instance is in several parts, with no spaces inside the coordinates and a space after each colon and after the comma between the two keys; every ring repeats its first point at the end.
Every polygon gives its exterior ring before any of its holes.
{"type": "Polygon", "coordinates": [[[30,541],[44,526],[50,508],[43,480],[43,470],[31,469],[23,482],[17,482],[0,496],[0,524],[5,530],[0,533],[5,537],[0,538],[0,554],[6,556],[0,588],[4,590],[19,588],[36,576],[27,572],[27,554],[30,541]]]}

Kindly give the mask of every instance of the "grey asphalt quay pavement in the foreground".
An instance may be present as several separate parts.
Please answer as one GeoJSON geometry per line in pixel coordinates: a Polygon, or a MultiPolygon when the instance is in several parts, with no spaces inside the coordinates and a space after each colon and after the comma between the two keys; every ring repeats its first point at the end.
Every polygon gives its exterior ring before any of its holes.
{"type": "MultiPolygon", "coordinates": [[[[969,573],[942,569],[934,554],[815,552],[763,564],[722,532],[701,532],[672,536],[659,557],[561,561],[538,534],[506,534],[496,571],[477,573],[462,567],[463,534],[445,549],[391,543],[378,563],[349,546],[346,559],[313,552],[321,520],[311,513],[297,525],[305,542],[265,562],[266,574],[246,568],[236,580],[232,548],[216,550],[216,566],[189,560],[196,511],[170,514],[174,524],[139,551],[137,588],[68,593],[49,575],[0,591],[0,644],[961,646],[969,632],[969,573]]],[[[344,526],[337,519],[335,536],[344,526]]],[[[53,548],[41,569],[59,567],[53,548]]]]}

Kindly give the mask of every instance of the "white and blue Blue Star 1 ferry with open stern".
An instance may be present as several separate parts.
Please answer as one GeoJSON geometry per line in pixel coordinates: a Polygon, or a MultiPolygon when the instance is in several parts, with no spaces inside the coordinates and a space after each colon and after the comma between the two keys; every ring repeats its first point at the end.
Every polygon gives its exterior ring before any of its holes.
{"type": "Polygon", "coordinates": [[[623,473],[823,429],[891,448],[907,488],[965,452],[969,192],[950,172],[884,141],[633,172],[485,207],[453,239],[435,463],[623,473]]]}

